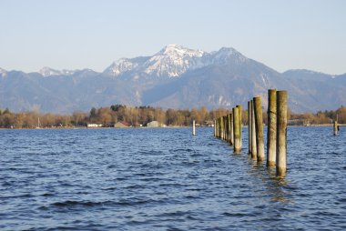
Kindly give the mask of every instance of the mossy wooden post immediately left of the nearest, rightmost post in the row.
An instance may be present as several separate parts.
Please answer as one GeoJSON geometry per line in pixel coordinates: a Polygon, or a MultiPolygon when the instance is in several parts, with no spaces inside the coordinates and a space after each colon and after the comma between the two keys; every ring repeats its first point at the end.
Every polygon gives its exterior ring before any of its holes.
{"type": "Polygon", "coordinates": [[[276,162],[276,90],[268,90],[267,166],[276,162]]]}

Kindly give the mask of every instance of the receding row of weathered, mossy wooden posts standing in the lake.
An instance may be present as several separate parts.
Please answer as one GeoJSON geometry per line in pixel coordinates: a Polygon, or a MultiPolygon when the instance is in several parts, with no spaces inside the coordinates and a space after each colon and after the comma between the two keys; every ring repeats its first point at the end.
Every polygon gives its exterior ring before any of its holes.
{"type": "MultiPolygon", "coordinates": [[[[268,91],[267,166],[276,166],[277,176],[285,176],[287,169],[287,91],[268,91]]],[[[241,105],[232,108],[227,116],[214,120],[214,136],[226,140],[234,153],[242,148],[241,105]]],[[[264,135],[261,97],[248,102],[249,155],[264,161],[264,135]]]]}

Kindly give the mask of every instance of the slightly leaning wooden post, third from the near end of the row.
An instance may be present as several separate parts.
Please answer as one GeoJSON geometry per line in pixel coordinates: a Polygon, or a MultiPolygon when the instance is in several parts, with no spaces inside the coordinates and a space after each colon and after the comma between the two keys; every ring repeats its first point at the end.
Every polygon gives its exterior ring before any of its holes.
{"type": "Polygon", "coordinates": [[[260,97],[254,97],[253,102],[255,105],[257,161],[263,161],[264,160],[264,140],[263,140],[262,103],[261,103],[260,97]]]}

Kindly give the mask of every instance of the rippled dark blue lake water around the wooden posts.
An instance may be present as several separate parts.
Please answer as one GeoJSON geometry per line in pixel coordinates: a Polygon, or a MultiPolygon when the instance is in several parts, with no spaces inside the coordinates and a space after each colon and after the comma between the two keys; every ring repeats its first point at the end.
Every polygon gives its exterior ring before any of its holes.
{"type": "Polygon", "coordinates": [[[212,134],[0,130],[0,229],[346,230],[346,127],[289,127],[285,179],[212,134]]]}

